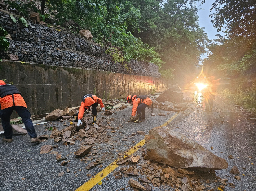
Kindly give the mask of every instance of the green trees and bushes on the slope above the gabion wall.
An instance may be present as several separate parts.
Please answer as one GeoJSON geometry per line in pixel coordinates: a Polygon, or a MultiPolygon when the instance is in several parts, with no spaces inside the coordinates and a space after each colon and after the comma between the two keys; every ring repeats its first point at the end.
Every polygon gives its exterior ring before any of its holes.
{"type": "Polygon", "coordinates": [[[89,29],[114,61],[154,62],[163,77],[172,78],[193,73],[205,52],[207,36],[198,25],[196,1],[43,0],[40,10],[36,1],[5,2],[25,17],[35,11],[41,20],[75,33],[89,29]]]}

